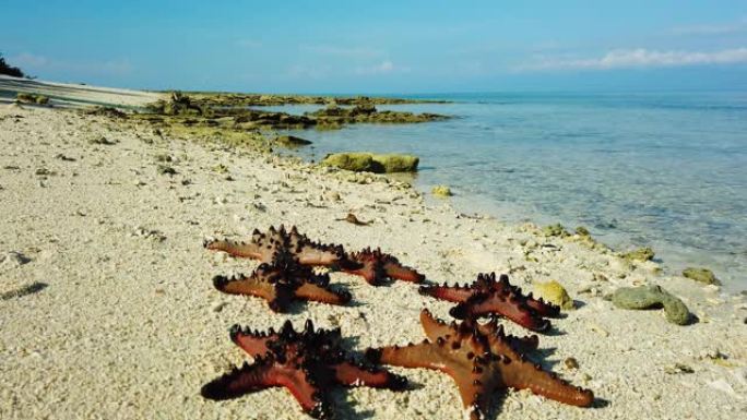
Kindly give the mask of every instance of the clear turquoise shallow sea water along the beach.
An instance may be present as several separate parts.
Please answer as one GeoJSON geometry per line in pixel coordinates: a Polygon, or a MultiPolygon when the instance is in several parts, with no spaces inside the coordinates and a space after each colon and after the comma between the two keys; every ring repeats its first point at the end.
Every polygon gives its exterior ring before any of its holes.
{"type": "MultiPolygon", "coordinates": [[[[420,157],[415,185],[507,221],[585,226],[615,249],[651,245],[669,272],[747,288],[747,93],[471,94],[381,106],[458,118],[295,134],[300,153],[420,157]]],[[[304,112],[316,107],[276,107],[304,112]]]]}

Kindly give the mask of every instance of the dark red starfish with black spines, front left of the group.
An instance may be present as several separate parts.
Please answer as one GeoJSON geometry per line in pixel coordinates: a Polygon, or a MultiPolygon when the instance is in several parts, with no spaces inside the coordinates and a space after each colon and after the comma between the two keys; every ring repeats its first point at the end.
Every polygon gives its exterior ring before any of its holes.
{"type": "Polygon", "coordinates": [[[301,409],[318,419],[333,418],[328,398],[334,385],[404,389],[407,380],[374,364],[355,362],[341,348],[340,328],[316,329],[311,321],[296,332],[286,321],[278,332],[265,334],[234,325],[230,339],[254,362],[244,363],[205,384],[201,394],[210,399],[228,399],[273,386],[290,391],[301,409]]]}

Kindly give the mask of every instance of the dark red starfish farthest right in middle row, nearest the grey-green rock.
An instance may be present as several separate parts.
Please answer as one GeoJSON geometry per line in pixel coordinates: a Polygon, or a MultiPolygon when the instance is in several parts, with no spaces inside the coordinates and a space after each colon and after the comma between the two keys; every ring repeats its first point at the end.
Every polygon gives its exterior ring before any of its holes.
{"type": "Polygon", "coordinates": [[[560,308],[535,299],[532,293],[524,297],[521,288],[512,286],[508,276],[502,274],[496,280],[496,274],[478,274],[470,286],[422,286],[420,295],[458,302],[449,312],[456,319],[479,317],[486,314],[499,314],[532,331],[546,331],[550,322],[543,316],[557,317],[560,308]]]}

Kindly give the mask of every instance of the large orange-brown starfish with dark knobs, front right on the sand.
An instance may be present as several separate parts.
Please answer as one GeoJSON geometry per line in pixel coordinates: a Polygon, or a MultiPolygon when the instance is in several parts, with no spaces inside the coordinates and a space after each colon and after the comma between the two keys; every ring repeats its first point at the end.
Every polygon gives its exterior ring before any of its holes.
{"type": "Polygon", "coordinates": [[[384,364],[449,374],[459,387],[471,420],[483,419],[493,392],[508,387],[531,389],[579,407],[589,407],[594,400],[591,391],[572,386],[527,361],[502,331],[500,334],[496,331],[495,321],[487,327],[472,322],[448,325],[424,309],[420,323],[428,337],[423,343],[368,349],[366,357],[384,364]]]}

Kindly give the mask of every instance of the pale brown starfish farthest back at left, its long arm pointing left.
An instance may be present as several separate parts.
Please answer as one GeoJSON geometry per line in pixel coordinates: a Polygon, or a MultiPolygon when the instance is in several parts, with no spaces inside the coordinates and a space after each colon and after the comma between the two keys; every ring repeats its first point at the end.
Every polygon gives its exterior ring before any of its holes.
{"type": "Polygon", "coordinates": [[[224,251],[233,256],[254,259],[268,264],[273,262],[277,252],[286,250],[303,265],[357,267],[349,264],[341,245],[313,242],[306,235],[298,233],[295,226],[287,231],[283,225],[277,230],[270,227],[266,233],[254,229],[248,242],[209,240],[203,245],[209,250],[224,251]]]}

